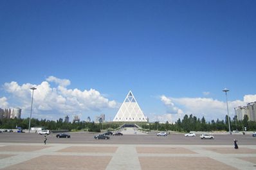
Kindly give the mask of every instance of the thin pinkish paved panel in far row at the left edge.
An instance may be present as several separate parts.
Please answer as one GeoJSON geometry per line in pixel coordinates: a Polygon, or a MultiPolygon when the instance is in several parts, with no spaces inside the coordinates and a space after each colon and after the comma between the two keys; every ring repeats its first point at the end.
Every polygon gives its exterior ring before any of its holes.
{"type": "Polygon", "coordinates": [[[1,146],[0,151],[37,151],[48,147],[50,146],[8,145],[1,146]]]}

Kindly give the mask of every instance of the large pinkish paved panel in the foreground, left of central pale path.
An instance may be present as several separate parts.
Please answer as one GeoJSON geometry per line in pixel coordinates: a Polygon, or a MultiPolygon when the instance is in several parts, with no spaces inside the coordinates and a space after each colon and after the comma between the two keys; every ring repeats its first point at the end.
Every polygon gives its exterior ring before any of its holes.
{"type": "Polygon", "coordinates": [[[111,157],[44,155],[2,170],[105,170],[111,157]]]}

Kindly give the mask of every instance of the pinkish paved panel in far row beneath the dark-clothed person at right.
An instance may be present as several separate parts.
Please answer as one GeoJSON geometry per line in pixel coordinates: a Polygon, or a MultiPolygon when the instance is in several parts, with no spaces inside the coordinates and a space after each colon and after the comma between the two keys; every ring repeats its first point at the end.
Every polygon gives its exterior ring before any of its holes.
{"type": "Polygon", "coordinates": [[[214,151],[221,154],[255,154],[256,149],[250,149],[250,148],[203,148],[208,151],[214,151]]]}

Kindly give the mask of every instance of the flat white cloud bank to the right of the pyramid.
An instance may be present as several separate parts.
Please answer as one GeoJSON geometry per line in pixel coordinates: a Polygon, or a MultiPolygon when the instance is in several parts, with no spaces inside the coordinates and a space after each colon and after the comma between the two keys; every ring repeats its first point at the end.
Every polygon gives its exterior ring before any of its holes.
{"type": "MultiPolygon", "coordinates": [[[[177,121],[178,118],[183,118],[185,114],[193,114],[197,118],[204,116],[208,121],[217,118],[224,119],[227,114],[226,101],[219,101],[212,98],[169,98],[161,96],[161,101],[167,106],[167,113],[172,115],[179,113],[179,117],[172,117],[172,122],[177,121]],[[176,105],[179,105],[179,108],[176,105]]],[[[256,101],[256,95],[246,95],[243,101],[228,101],[230,117],[234,116],[233,108],[244,106],[253,101],[256,101]]]]}

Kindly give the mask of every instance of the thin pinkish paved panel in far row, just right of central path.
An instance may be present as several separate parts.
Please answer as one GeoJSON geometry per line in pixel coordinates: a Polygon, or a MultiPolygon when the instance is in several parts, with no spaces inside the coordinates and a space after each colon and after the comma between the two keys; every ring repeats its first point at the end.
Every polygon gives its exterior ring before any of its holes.
{"type": "Polygon", "coordinates": [[[174,147],[136,147],[137,153],[170,153],[170,154],[197,154],[186,148],[174,147]]]}

